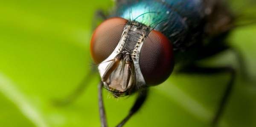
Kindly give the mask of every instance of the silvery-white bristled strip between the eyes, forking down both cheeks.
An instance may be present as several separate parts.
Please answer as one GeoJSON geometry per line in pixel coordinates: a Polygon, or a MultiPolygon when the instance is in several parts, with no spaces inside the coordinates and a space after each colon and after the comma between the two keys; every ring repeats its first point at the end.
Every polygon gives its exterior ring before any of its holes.
{"type": "MultiPolygon", "coordinates": [[[[108,65],[116,57],[117,54],[129,53],[134,63],[134,71],[135,71],[135,78],[136,78],[135,80],[136,82],[134,82],[135,86],[143,87],[144,85],[146,85],[145,79],[140,71],[139,58],[140,58],[140,50],[143,45],[143,40],[148,35],[148,31],[149,31],[149,28],[145,25],[141,25],[140,23],[137,23],[137,22],[131,22],[131,21],[128,22],[125,25],[124,31],[122,33],[122,37],[119,40],[119,43],[116,46],[115,50],[112,52],[110,56],[108,56],[107,59],[105,59],[98,66],[98,70],[101,78],[105,73],[106,68],[108,68],[108,65]]],[[[108,88],[107,82],[103,82],[103,83],[105,87],[108,88]]]]}

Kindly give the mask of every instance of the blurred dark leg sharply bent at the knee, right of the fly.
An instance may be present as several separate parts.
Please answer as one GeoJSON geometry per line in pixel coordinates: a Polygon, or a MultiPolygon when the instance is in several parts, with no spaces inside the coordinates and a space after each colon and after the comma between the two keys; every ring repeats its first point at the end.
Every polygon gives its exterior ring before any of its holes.
{"type": "Polygon", "coordinates": [[[234,86],[234,80],[236,77],[236,71],[232,67],[216,67],[216,68],[206,68],[200,67],[197,65],[189,65],[186,68],[180,70],[182,73],[197,73],[197,74],[214,74],[214,73],[229,73],[230,80],[227,84],[227,87],[224,91],[224,94],[221,97],[221,100],[218,104],[218,110],[215,113],[215,116],[212,119],[212,127],[216,127],[218,125],[218,121],[221,115],[224,112],[224,108],[227,105],[228,99],[230,98],[230,94],[232,92],[234,86]]]}

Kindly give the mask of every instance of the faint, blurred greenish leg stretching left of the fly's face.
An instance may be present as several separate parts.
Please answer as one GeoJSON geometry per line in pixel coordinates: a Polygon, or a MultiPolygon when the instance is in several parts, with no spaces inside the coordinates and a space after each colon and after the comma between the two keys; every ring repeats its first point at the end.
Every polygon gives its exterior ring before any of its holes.
{"type": "Polygon", "coordinates": [[[93,65],[93,67],[90,69],[90,72],[87,73],[86,76],[84,76],[84,79],[81,81],[79,86],[76,87],[76,89],[64,99],[55,101],[55,104],[58,106],[65,106],[74,102],[84,92],[87,84],[90,83],[90,79],[92,75],[94,75],[95,73],[96,73],[96,66],[93,65]]]}

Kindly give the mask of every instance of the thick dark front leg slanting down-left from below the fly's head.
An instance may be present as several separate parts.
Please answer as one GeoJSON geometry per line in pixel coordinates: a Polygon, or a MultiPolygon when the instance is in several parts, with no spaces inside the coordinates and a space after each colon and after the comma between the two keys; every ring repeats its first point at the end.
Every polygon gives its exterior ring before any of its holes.
{"type": "Polygon", "coordinates": [[[147,96],[148,96],[148,89],[142,90],[139,93],[134,105],[131,107],[128,115],[116,127],[122,127],[131,118],[131,116],[133,116],[140,109],[140,107],[145,102],[147,96]]]}

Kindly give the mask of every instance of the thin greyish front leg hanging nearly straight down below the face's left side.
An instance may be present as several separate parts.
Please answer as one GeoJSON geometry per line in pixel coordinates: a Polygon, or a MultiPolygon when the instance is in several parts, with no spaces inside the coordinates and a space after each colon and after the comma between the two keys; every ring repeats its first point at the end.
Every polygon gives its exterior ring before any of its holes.
{"type": "Polygon", "coordinates": [[[98,85],[100,123],[101,123],[101,127],[108,127],[106,113],[105,113],[105,107],[104,107],[104,103],[103,103],[103,99],[102,99],[102,87],[103,87],[103,83],[100,82],[98,85]]]}

